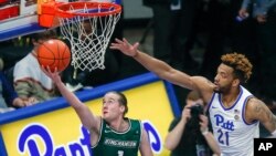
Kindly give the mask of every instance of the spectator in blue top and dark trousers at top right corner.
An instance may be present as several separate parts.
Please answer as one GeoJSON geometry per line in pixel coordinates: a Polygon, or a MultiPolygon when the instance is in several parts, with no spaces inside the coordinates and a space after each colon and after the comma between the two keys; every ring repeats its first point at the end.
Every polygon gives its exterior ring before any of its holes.
{"type": "Polygon", "coordinates": [[[259,96],[272,103],[276,97],[276,0],[243,0],[240,17],[255,19],[255,32],[261,48],[259,96]]]}

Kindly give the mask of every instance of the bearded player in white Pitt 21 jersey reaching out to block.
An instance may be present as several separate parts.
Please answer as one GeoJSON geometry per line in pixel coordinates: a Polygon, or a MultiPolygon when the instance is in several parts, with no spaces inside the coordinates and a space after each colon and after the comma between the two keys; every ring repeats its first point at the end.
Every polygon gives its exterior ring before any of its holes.
{"type": "Polygon", "coordinates": [[[252,156],[253,141],[259,136],[259,123],[276,135],[276,117],[264,102],[254,97],[242,86],[252,74],[252,64],[243,54],[222,55],[214,82],[203,76],[190,76],[167,63],[138,50],[139,43],[130,44],[126,39],[112,43],[134,58],[159,77],[176,85],[197,90],[209,104],[214,136],[222,156],[252,156]]]}

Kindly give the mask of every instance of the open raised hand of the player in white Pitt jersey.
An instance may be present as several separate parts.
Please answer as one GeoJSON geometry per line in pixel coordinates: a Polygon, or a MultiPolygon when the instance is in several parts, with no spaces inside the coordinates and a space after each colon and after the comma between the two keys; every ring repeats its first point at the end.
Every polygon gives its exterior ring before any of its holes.
{"type": "Polygon", "coordinates": [[[110,49],[119,50],[124,54],[129,56],[135,56],[138,53],[139,43],[130,44],[125,38],[123,40],[115,39],[115,42],[112,43],[110,49]]]}

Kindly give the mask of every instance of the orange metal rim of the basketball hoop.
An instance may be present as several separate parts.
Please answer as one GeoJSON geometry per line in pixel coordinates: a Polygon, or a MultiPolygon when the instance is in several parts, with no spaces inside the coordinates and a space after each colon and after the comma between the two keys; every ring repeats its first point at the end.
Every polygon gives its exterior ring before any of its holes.
{"type": "Polygon", "coordinates": [[[60,18],[73,18],[73,17],[106,17],[109,14],[118,14],[121,12],[121,7],[116,3],[110,2],[68,2],[68,3],[56,3],[55,6],[56,15],[60,18]],[[98,12],[70,12],[71,7],[74,7],[74,10],[84,9],[95,9],[98,12]],[[98,10],[100,6],[100,10],[98,10]]]}

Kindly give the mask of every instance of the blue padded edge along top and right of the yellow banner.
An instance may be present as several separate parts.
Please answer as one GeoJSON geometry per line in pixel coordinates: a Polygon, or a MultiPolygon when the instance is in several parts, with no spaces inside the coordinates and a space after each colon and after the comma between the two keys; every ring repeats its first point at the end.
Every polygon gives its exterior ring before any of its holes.
{"type": "MultiPolygon", "coordinates": [[[[76,92],[76,96],[82,102],[86,102],[86,101],[102,97],[108,91],[121,92],[121,91],[130,90],[130,89],[144,85],[144,84],[156,82],[156,81],[160,81],[160,79],[157,77],[152,73],[146,73],[146,74],[137,75],[134,77],[125,79],[121,81],[117,81],[114,83],[100,85],[98,87],[76,92]]],[[[177,98],[174,95],[174,91],[173,91],[170,83],[164,82],[164,85],[167,89],[167,93],[169,95],[169,100],[171,102],[172,111],[173,111],[174,115],[177,115],[177,114],[179,114],[179,111],[177,111],[178,110],[178,102],[177,102],[177,98]]],[[[60,110],[60,108],[64,108],[67,106],[68,106],[68,104],[63,97],[57,97],[57,98],[54,98],[51,101],[43,102],[41,104],[36,104],[33,106],[28,106],[28,107],[22,107],[22,108],[19,108],[17,111],[13,111],[13,112],[0,114],[0,124],[11,123],[14,121],[28,118],[31,116],[40,115],[43,113],[52,112],[54,110],[60,110]]]]}

